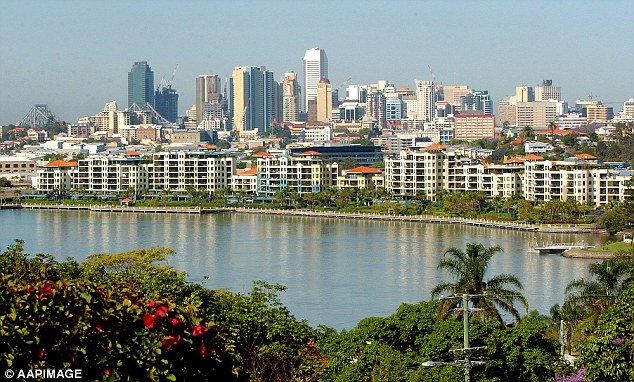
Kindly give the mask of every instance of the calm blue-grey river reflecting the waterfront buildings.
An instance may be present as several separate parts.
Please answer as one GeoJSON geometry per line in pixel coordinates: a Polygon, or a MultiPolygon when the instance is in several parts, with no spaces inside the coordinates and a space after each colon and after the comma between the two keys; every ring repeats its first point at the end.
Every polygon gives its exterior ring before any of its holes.
{"type": "Polygon", "coordinates": [[[565,286],[587,276],[593,260],[539,255],[531,242],[601,244],[600,235],[545,234],[463,225],[271,216],[2,210],[0,246],[26,241],[29,253],[84,260],[93,253],[171,247],[170,259],[208,288],[250,290],[252,280],[288,287],[282,301],[309,324],[350,329],[402,303],[430,298],[448,275],[436,269],[449,247],[502,246],[488,275],[510,273],[531,310],[561,304],[565,286]],[[204,279],[208,276],[208,279],[204,279]]]}

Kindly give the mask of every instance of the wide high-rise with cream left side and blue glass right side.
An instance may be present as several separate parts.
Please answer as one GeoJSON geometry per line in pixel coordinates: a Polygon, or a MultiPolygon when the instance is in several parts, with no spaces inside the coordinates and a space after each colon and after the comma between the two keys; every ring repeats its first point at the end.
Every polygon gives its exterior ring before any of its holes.
{"type": "Polygon", "coordinates": [[[265,131],[279,115],[279,84],[264,66],[239,66],[231,79],[233,126],[236,131],[265,131]]]}

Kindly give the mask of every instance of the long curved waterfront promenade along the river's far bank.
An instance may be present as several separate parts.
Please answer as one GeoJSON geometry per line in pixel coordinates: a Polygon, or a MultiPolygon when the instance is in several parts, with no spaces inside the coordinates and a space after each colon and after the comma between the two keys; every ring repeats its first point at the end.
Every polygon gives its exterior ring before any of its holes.
{"type": "Polygon", "coordinates": [[[591,233],[597,229],[590,224],[530,224],[513,221],[500,221],[488,219],[472,219],[461,217],[439,217],[434,215],[383,215],[372,213],[344,213],[336,211],[315,211],[308,209],[272,209],[253,207],[136,207],[136,206],[108,206],[94,204],[64,205],[64,204],[22,204],[14,206],[2,206],[3,208],[24,208],[24,209],[49,209],[49,210],[87,210],[96,212],[135,212],[135,213],[168,213],[168,214],[210,214],[222,212],[240,212],[249,214],[271,214],[306,216],[337,219],[362,219],[362,220],[383,220],[401,222],[439,223],[439,224],[462,224],[489,228],[510,229],[519,231],[534,231],[544,233],[591,233]]]}

